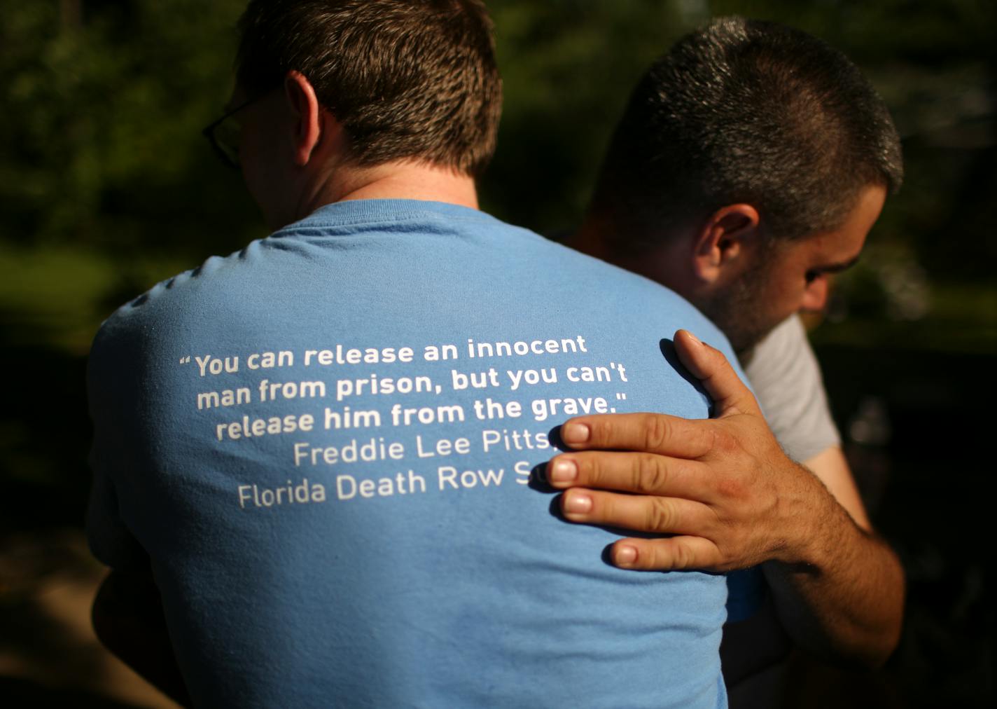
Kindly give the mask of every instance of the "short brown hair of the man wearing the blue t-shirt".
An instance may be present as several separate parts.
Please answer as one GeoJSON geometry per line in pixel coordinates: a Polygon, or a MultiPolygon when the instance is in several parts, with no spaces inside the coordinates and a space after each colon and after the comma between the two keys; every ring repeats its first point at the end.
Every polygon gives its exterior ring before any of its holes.
{"type": "Polygon", "coordinates": [[[303,74],[349,161],[476,176],[495,152],[501,82],[480,0],[250,0],[236,79],[249,97],[303,74]]]}

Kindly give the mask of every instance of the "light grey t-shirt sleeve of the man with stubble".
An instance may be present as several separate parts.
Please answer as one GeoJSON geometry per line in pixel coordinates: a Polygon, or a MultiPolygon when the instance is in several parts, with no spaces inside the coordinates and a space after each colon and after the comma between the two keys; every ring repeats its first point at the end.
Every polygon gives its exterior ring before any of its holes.
{"type": "Polygon", "coordinates": [[[762,411],[787,455],[804,462],[841,443],[814,350],[796,315],[762,340],[745,366],[762,411]]]}

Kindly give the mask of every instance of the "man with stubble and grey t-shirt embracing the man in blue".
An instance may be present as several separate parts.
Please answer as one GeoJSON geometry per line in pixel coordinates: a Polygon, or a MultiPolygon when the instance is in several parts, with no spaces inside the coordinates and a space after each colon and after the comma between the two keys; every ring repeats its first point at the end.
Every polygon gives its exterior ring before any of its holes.
{"type": "MultiPolygon", "coordinates": [[[[824,306],[901,180],[885,105],[840,52],[738,17],[681,39],[635,89],[570,243],[720,326],[771,431],[713,353],[696,373],[714,420],[574,419],[563,438],[577,452],[547,467],[571,522],[662,534],[616,541],[617,565],[761,565],[798,644],[872,666],[899,637],[902,571],[871,529],[796,313],[824,306]]],[[[778,627],[751,622],[766,631],[747,642],[740,624],[725,631],[729,684],[785,652],[778,627]]]]}

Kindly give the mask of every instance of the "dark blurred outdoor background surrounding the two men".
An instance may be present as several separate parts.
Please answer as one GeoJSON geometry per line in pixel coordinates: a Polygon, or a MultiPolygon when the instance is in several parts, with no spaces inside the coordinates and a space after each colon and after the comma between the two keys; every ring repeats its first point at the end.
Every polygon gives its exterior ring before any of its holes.
{"type": "MultiPolygon", "coordinates": [[[[792,706],[991,706],[986,541],[997,394],[997,3],[504,0],[505,110],[483,206],[579,216],[641,70],[713,15],[808,30],[872,79],[907,180],[813,339],[878,530],[909,581],[880,672],[798,659],[792,706]]],[[[168,706],[101,653],[81,530],[84,369],[125,299],[265,234],[199,130],[230,90],[242,0],[0,0],[0,704],[168,706]],[[12,702],[12,703],[8,703],[12,702]]]]}

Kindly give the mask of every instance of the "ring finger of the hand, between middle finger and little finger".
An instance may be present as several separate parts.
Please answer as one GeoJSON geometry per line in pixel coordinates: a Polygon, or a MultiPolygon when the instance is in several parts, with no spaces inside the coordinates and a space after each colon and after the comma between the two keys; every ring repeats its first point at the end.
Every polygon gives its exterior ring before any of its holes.
{"type": "Polygon", "coordinates": [[[572,488],[561,495],[561,514],[585,525],[656,534],[709,534],[716,515],[702,503],[682,498],[622,495],[572,488]]]}

